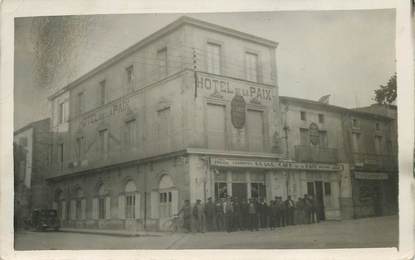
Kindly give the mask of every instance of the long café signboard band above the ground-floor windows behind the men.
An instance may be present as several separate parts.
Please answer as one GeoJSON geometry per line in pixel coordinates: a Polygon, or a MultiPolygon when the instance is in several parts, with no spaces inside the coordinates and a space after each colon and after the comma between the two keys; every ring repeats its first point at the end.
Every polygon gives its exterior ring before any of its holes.
{"type": "Polygon", "coordinates": [[[218,158],[218,157],[211,157],[210,165],[217,166],[217,167],[331,171],[331,172],[343,170],[343,167],[337,164],[241,160],[241,159],[228,159],[228,158],[218,158]]]}

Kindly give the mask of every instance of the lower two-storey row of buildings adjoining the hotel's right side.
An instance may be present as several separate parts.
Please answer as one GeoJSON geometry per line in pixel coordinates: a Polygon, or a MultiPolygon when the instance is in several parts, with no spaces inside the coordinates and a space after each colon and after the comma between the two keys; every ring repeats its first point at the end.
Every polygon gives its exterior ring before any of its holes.
{"type": "Polygon", "coordinates": [[[280,106],[287,158],[341,165],[336,173],[307,176],[306,193],[320,200],[325,215],[332,205],[343,219],[397,213],[396,107],[346,109],[292,97],[280,97],[280,106]]]}

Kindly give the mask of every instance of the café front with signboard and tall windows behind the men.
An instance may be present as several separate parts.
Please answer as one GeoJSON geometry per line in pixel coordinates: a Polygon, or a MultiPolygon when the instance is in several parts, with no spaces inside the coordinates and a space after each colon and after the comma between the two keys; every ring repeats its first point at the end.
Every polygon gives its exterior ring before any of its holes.
{"type": "Polygon", "coordinates": [[[297,163],[244,158],[210,158],[214,198],[255,198],[268,203],[275,197],[294,201],[312,195],[321,220],[339,219],[339,174],[336,164],[297,163]]]}

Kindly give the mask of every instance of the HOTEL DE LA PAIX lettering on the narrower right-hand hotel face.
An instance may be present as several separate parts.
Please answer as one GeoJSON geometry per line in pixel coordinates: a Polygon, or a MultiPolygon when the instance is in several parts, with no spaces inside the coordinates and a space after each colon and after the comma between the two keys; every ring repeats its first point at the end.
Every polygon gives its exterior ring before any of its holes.
{"type": "Polygon", "coordinates": [[[233,97],[239,94],[243,97],[255,98],[258,101],[271,101],[272,90],[258,85],[238,84],[234,80],[218,79],[214,77],[197,75],[197,88],[206,89],[212,93],[220,93],[233,97]]]}

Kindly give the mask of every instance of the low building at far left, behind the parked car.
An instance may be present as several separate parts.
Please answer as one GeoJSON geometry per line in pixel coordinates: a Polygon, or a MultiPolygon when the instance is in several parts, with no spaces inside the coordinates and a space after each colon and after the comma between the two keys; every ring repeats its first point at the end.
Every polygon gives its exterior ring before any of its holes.
{"type": "Polygon", "coordinates": [[[43,119],[14,132],[15,221],[23,227],[36,208],[50,206],[46,178],[49,177],[50,119],[43,119]]]}

